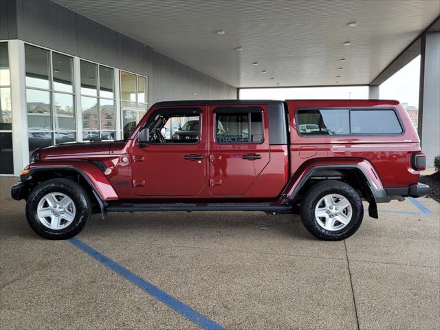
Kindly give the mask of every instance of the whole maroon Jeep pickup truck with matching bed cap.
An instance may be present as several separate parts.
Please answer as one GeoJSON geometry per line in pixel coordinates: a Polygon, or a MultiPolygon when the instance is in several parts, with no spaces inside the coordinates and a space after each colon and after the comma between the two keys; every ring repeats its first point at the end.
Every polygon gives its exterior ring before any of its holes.
{"type": "Polygon", "coordinates": [[[419,137],[393,100],[159,102],[127,136],[32,153],[11,194],[37,234],[68,239],[93,212],[263,211],[340,240],[358,230],[362,201],[377,218],[377,203],[429,190],[419,137]],[[195,129],[181,138],[173,128],[186,122],[195,129]]]}

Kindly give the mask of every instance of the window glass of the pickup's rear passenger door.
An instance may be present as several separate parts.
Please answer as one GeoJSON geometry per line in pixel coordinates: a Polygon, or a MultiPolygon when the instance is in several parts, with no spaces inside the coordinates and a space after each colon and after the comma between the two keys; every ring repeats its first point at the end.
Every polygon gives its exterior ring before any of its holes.
{"type": "Polygon", "coordinates": [[[260,108],[217,108],[215,140],[217,143],[263,142],[263,111],[260,108]]]}

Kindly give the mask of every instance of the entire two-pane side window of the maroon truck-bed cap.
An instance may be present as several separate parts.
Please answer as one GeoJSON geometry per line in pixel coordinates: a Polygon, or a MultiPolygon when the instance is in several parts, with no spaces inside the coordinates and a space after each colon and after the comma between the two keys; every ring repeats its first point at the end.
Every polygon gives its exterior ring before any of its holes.
{"type": "Polygon", "coordinates": [[[303,109],[298,111],[300,135],[393,135],[403,133],[391,109],[303,109]]]}

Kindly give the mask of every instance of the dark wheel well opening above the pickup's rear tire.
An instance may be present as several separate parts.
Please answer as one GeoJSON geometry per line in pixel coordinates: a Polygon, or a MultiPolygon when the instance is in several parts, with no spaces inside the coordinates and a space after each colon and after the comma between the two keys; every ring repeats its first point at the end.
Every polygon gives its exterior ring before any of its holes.
{"type": "Polygon", "coordinates": [[[375,201],[373,193],[371,192],[369,181],[359,168],[318,168],[312,171],[313,172],[311,175],[309,175],[309,177],[307,177],[300,190],[298,190],[298,194],[296,194],[294,197],[294,203],[300,203],[300,200],[303,198],[307,190],[311,188],[311,186],[327,179],[338,180],[349,184],[366,201],[375,201]]]}

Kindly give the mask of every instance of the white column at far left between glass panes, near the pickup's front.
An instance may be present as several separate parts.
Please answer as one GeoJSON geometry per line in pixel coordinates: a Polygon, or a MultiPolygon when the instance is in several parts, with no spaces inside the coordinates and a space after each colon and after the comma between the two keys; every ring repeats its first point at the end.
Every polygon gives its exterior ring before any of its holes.
{"type": "Polygon", "coordinates": [[[21,40],[9,41],[11,72],[12,148],[14,175],[20,175],[29,164],[28,113],[25,87],[25,44],[21,40]]]}

